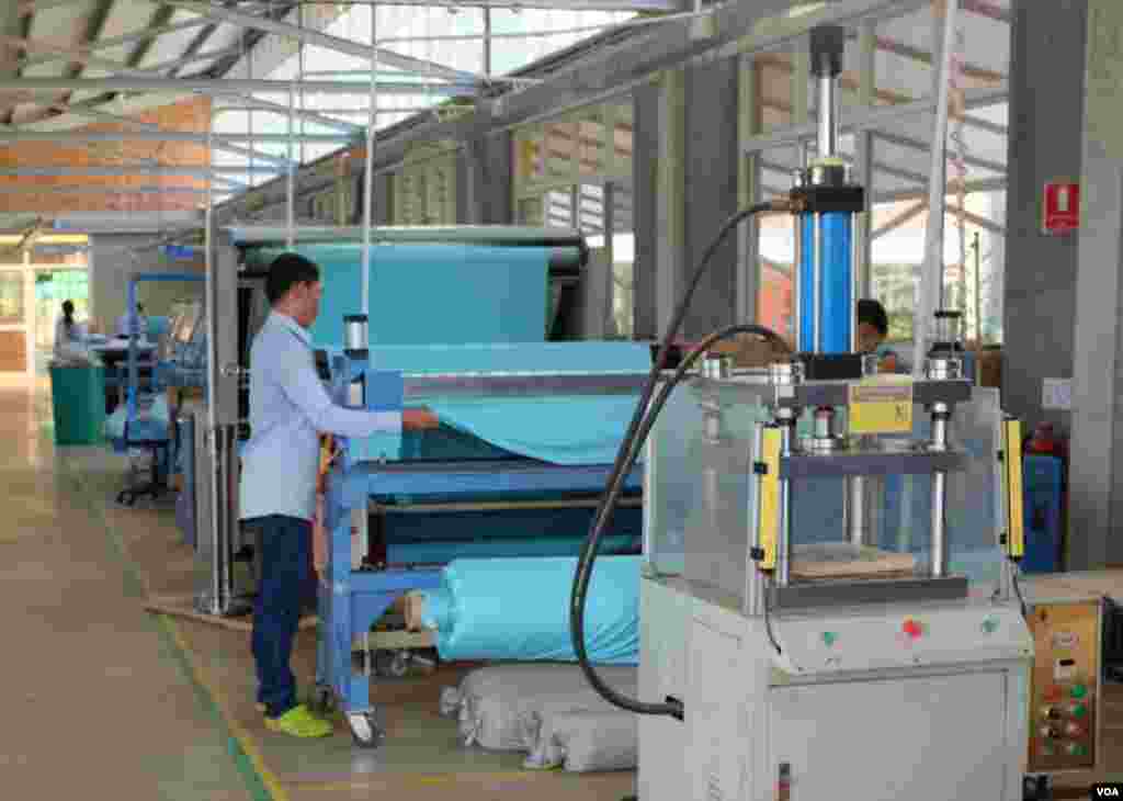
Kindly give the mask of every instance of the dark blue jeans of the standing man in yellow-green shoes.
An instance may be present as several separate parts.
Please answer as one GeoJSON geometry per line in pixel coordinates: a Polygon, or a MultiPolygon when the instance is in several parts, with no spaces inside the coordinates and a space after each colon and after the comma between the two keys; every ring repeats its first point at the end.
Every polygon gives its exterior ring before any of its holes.
{"type": "Polygon", "coordinates": [[[262,574],[254,607],[254,661],[257,664],[257,700],[265,713],[279,718],[296,706],[296,680],[289,662],[300,626],[300,606],[307,585],[312,549],[312,524],[294,517],[271,515],[246,520],[258,535],[262,574]]]}

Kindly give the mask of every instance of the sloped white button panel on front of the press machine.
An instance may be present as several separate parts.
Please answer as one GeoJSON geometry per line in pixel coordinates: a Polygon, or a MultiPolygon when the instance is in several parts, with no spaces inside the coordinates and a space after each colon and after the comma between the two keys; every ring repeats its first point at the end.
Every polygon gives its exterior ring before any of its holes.
{"type": "Polygon", "coordinates": [[[916,665],[1033,655],[1029,628],[1016,604],[965,601],[961,606],[898,604],[878,613],[774,617],[784,673],[910,668],[916,665]]]}

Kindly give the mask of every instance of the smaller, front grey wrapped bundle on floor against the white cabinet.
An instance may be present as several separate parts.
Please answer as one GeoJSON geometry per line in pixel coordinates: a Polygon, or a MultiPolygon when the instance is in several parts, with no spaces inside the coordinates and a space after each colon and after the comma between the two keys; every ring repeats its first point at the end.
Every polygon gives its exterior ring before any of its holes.
{"type": "Polygon", "coordinates": [[[639,721],[632,712],[556,712],[540,720],[537,745],[522,766],[572,773],[633,771],[639,764],[639,721]]]}

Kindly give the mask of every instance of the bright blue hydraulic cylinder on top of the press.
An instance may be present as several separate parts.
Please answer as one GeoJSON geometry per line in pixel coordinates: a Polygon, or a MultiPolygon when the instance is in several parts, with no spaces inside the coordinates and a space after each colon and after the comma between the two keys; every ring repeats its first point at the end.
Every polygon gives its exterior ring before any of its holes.
{"type": "Polygon", "coordinates": [[[853,215],[832,211],[800,216],[800,342],[802,353],[850,353],[855,325],[853,215]],[[815,218],[821,220],[822,260],[815,280],[815,218]],[[815,285],[819,315],[815,315],[815,285]],[[816,337],[816,331],[822,336],[816,337]],[[818,340],[816,340],[818,339],[818,340]]]}

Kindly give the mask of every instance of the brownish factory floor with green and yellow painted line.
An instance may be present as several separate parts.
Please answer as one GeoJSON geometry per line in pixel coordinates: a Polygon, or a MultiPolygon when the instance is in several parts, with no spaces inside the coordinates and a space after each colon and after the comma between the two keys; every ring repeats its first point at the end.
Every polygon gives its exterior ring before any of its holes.
{"type": "MultiPolygon", "coordinates": [[[[387,727],[377,750],[353,746],[341,718],[323,740],[266,731],[248,634],[144,611],[150,595],[192,591],[191,549],[171,503],[118,508],[125,461],[104,446],[55,448],[52,436],[44,382],[0,376],[0,609],[12,612],[6,798],[95,788],[119,801],[617,801],[633,792],[632,773],[527,772],[521,755],[460,746],[437,708],[463,666],[372,686],[387,727]]],[[[309,685],[313,631],[299,637],[294,666],[309,685]]]]}

